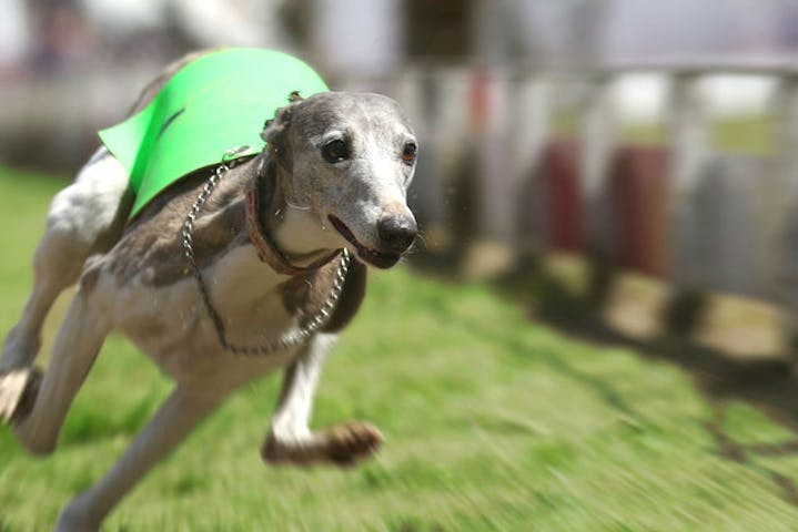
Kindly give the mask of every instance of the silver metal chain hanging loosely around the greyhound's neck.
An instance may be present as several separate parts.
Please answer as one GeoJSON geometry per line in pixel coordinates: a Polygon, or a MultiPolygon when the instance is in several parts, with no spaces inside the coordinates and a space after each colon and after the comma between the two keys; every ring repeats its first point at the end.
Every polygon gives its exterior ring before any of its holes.
{"type": "Polygon", "coordinates": [[[216,168],[213,171],[213,174],[208,178],[205,185],[202,187],[202,192],[200,192],[200,195],[196,197],[194,204],[191,206],[191,211],[189,211],[189,215],[183,223],[182,236],[185,258],[191,265],[192,273],[194,274],[194,278],[196,279],[196,284],[200,288],[200,294],[202,295],[202,300],[205,305],[205,309],[208,310],[209,316],[211,317],[211,320],[213,321],[213,326],[216,329],[216,336],[219,337],[219,342],[221,344],[221,346],[224,348],[224,350],[230,351],[234,355],[263,356],[272,354],[274,351],[286,349],[289,347],[299,346],[300,344],[305,342],[311,338],[314,332],[316,332],[324,324],[327,323],[327,320],[332,316],[333,309],[335,308],[335,304],[337,303],[339,298],[341,297],[341,293],[343,291],[346,273],[349,272],[350,264],[352,262],[352,255],[350,254],[349,249],[343,248],[341,262],[339,263],[339,269],[336,270],[335,277],[333,278],[333,286],[330,290],[330,295],[327,296],[327,299],[324,301],[324,305],[322,305],[322,308],[319,310],[319,313],[311,319],[306,320],[305,325],[303,325],[302,327],[294,327],[292,329],[289,329],[275,339],[260,346],[240,346],[229,341],[224,334],[224,321],[222,321],[222,317],[219,315],[219,313],[213,306],[213,303],[211,301],[210,290],[208,289],[205,279],[202,277],[202,272],[196,264],[196,259],[194,258],[192,234],[194,231],[194,222],[196,219],[196,215],[200,213],[200,209],[213,193],[213,190],[219,184],[219,181],[224,176],[224,174],[228,173],[228,171],[230,171],[230,168],[235,165],[235,161],[228,161],[228,158],[232,155],[240,154],[242,151],[245,150],[246,149],[233,149],[225,153],[224,157],[222,158],[222,164],[216,166],[216,168]]]}

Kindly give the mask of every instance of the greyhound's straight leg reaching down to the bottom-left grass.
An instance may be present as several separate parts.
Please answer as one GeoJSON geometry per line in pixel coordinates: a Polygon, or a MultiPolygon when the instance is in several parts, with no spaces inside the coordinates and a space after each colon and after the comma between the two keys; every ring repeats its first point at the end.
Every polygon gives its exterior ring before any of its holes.
{"type": "Polygon", "coordinates": [[[55,531],[99,530],[102,520],[128,491],[213,411],[223,397],[224,393],[195,392],[179,386],[105,478],[61,512],[55,531]]]}

